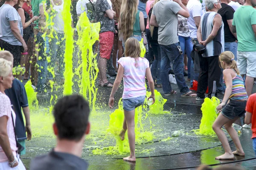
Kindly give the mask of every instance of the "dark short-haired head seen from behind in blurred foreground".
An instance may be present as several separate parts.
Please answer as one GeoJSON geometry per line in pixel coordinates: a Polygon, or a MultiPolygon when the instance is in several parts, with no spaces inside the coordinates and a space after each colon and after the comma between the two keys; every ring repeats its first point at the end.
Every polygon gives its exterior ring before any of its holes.
{"type": "Polygon", "coordinates": [[[64,96],[53,108],[53,130],[58,139],[79,142],[90,131],[90,108],[80,95],[64,96]]]}

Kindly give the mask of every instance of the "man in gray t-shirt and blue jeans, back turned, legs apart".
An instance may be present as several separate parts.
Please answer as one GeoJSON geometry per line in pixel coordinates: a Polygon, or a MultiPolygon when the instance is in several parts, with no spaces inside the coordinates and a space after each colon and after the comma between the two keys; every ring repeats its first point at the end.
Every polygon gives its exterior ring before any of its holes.
{"type": "Polygon", "coordinates": [[[161,80],[166,96],[176,94],[169,82],[167,69],[173,63],[177,85],[182,96],[193,96],[183,76],[183,57],[178,39],[178,16],[189,17],[189,11],[181,0],[160,0],[153,7],[150,25],[158,27],[158,43],[161,50],[161,80]]]}

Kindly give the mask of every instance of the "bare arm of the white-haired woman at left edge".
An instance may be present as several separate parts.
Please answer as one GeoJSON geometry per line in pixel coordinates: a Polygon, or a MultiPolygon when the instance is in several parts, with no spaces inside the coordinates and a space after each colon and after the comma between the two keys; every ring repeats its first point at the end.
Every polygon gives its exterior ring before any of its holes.
{"type": "Polygon", "coordinates": [[[2,147],[3,152],[7,156],[8,161],[13,162],[15,158],[14,158],[14,155],[12,154],[9,136],[7,134],[7,121],[8,121],[8,116],[5,115],[0,117],[0,146],[2,147]]]}

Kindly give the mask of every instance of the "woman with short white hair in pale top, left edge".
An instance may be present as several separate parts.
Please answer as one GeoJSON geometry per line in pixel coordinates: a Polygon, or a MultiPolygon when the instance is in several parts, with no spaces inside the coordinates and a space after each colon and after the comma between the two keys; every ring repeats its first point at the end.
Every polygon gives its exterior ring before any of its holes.
{"type": "Polygon", "coordinates": [[[4,91],[12,87],[12,62],[0,58],[0,169],[25,170],[17,153],[16,115],[4,91]]]}

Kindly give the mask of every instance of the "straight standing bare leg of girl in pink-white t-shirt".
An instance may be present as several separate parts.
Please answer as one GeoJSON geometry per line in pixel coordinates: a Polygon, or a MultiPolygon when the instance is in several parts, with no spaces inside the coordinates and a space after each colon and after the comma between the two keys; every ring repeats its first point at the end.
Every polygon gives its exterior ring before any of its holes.
{"type": "Polygon", "coordinates": [[[128,139],[130,145],[130,156],[123,158],[124,161],[136,161],[135,158],[135,110],[133,111],[124,111],[125,112],[125,119],[128,127],[128,139]]]}

